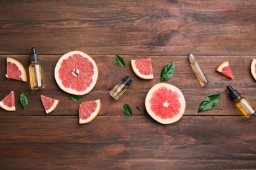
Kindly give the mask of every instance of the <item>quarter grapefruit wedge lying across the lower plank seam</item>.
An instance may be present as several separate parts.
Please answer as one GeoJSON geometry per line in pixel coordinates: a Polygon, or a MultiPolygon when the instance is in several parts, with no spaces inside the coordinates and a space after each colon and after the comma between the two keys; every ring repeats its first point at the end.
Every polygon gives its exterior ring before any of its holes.
{"type": "Polygon", "coordinates": [[[84,101],[79,105],[79,124],[92,122],[100,112],[100,99],[95,101],[84,101]]]}

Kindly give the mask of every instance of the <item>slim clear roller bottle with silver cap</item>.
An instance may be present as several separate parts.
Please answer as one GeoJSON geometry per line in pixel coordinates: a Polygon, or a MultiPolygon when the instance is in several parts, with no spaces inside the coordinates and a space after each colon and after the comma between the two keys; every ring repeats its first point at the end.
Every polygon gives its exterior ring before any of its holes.
{"type": "Polygon", "coordinates": [[[207,77],[203,73],[203,69],[200,66],[200,63],[198,63],[198,61],[196,61],[196,58],[193,54],[189,54],[188,59],[191,63],[191,67],[192,67],[194,73],[196,74],[196,77],[198,78],[201,86],[205,86],[209,81],[207,80],[207,77]]]}

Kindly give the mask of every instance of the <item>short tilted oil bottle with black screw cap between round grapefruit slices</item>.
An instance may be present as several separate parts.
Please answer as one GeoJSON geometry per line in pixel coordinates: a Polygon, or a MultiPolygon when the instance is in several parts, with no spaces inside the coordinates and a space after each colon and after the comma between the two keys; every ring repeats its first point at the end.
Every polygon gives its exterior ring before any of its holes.
{"type": "Polygon", "coordinates": [[[114,86],[114,88],[110,91],[110,95],[114,99],[118,100],[119,97],[121,97],[121,95],[123,95],[123,93],[127,90],[127,87],[131,84],[131,82],[133,82],[133,80],[131,80],[129,76],[125,76],[125,78],[118,82],[116,86],[114,86]]]}

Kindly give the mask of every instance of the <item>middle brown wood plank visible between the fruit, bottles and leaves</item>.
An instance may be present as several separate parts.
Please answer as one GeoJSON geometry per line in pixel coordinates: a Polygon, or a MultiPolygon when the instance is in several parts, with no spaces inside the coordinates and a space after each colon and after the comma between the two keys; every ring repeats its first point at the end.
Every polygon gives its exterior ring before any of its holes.
{"type": "MultiPolygon", "coordinates": [[[[18,59],[24,67],[28,68],[30,64],[29,56],[9,56],[3,55],[0,57],[0,62],[5,63],[6,57],[12,57],[18,59]]],[[[43,106],[41,104],[40,95],[47,95],[55,99],[59,99],[60,103],[53,115],[77,115],[79,104],[82,101],[100,99],[102,101],[101,115],[122,115],[123,105],[127,103],[131,106],[133,114],[147,115],[144,107],[144,99],[146,93],[150,88],[160,82],[161,69],[167,64],[167,62],[175,63],[175,74],[167,83],[173,84],[180,88],[184,93],[186,99],[186,111],[185,115],[198,115],[198,107],[200,103],[208,95],[214,93],[223,93],[223,97],[219,104],[212,110],[207,112],[201,112],[200,115],[242,115],[240,110],[234,105],[229,97],[229,92],[226,90],[226,86],[231,85],[234,89],[237,89],[242,95],[247,97],[253,105],[256,105],[255,97],[255,80],[250,73],[251,60],[254,56],[196,56],[198,61],[205,69],[205,74],[209,79],[207,86],[200,86],[196,75],[190,67],[190,63],[186,56],[122,56],[127,63],[127,67],[118,67],[114,61],[114,55],[98,56],[93,55],[98,70],[98,82],[92,92],[83,96],[81,101],[71,101],[68,97],[68,93],[63,92],[58,88],[54,80],[54,67],[58,56],[42,55],[40,56],[41,63],[44,67],[46,88],[44,90],[33,91],[30,90],[29,82],[20,82],[17,80],[11,80],[5,78],[5,67],[0,68],[0,98],[3,99],[11,90],[16,93],[16,112],[7,112],[0,109],[0,113],[3,115],[45,115],[43,106]],[[133,74],[129,61],[135,58],[151,58],[154,71],[154,80],[141,80],[133,74]],[[234,80],[230,80],[226,76],[221,75],[215,71],[215,67],[221,63],[221,61],[228,60],[230,67],[234,73],[234,80]],[[110,97],[109,92],[114,85],[121,80],[125,75],[133,78],[133,84],[129,87],[129,90],[118,100],[114,100],[110,97]],[[22,109],[19,101],[19,95],[24,92],[29,100],[29,105],[26,110],[22,109]],[[139,109],[137,109],[139,107],[139,109]]],[[[28,72],[28,69],[26,69],[28,72]]]]}

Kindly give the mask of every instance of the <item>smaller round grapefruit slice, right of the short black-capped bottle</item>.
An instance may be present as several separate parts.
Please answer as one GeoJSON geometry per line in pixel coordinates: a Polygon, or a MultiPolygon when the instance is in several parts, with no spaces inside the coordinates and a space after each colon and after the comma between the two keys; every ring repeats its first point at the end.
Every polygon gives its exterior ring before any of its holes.
{"type": "Polygon", "coordinates": [[[148,91],[145,106],[154,120],[161,124],[172,124],[183,116],[186,101],[179,88],[160,82],[148,91]]]}

